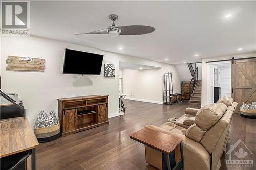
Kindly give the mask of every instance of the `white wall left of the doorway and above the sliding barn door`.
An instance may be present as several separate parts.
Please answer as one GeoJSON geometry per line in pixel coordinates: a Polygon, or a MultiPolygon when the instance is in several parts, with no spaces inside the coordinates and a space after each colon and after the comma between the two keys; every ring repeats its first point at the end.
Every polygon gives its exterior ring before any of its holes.
{"type": "MultiPolygon", "coordinates": [[[[226,55],[226,56],[219,56],[219,57],[211,57],[211,58],[204,58],[202,59],[202,105],[205,106],[210,104],[211,101],[211,91],[210,91],[210,64],[206,63],[207,61],[217,61],[217,60],[226,60],[234,58],[246,58],[246,57],[255,57],[256,53],[243,53],[243,54],[236,54],[236,55],[226,55]]],[[[218,64],[218,62],[216,62],[218,64]]],[[[213,63],[211,63],[213,64],[213,63]]]]}

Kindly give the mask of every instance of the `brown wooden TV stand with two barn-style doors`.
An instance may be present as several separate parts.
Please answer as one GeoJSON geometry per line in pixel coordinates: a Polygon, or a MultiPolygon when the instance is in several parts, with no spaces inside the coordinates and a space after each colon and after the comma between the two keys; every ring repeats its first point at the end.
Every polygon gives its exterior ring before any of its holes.
{"type": "Polygon", "coordinates": [[[108,124],[108,95],[58,99],[61,135],[108,124]]]}

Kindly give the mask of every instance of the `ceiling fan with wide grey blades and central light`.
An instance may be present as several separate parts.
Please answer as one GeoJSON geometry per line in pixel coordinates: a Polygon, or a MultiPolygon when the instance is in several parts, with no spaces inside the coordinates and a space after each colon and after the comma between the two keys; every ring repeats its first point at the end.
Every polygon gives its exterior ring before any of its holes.
{"type": "Polygon", "coordinates": [[[106,29],[98,30],[98,31],[93,31],[90,33],[77,33],[75,35],[109,34],[109,36],[111,37],[117,37],[118,35],[142,35],[142,34],[148,34],[155,31],[155,28],[151,26],[143,26],[143,25],[116,26],[115,20],[117,20],[118,16],[116,14],[111,14],[109,18],[113,22],[110,27],[106,29]]]}

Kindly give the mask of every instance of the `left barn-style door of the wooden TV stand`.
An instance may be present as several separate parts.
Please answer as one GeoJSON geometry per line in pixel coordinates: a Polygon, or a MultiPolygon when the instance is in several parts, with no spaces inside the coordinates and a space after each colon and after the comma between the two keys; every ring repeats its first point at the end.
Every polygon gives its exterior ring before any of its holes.
{"type": "Polygon", "coordinates": [[[76,109],[63,112],[63,132],[75,130],[76,109]]]}

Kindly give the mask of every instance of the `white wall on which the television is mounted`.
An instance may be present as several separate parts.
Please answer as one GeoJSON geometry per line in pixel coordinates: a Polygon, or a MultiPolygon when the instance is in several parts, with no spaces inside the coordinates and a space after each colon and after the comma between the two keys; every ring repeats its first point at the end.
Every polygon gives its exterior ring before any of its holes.
{"type": "MultiPolygon", "coordinates": [[[[70,96],[107,94],[109,95],[109,116],[118,114],[118,72],[119,61],[160,66],[162,63],[141,58],[96,50],[76,44],[50,40],[34,36],[1,37],[1,83],[6,93],[17,93],[23,99],[26,115],[34,124],[40,110],[57,114],[57,99],[70,96]],[[62,66],[65,48],[104,55],[103,64],[116,65],[114,79],[100,76],[63,75],[62,66]],[[6,71],[8,55],[44,58],[45,72],[6,71]]],[[[179,80],[178,80],[179,81],[179,80]]],[[[179,86],[179,83],[177,84],[179,86]]],[[[180,87],[176,87],[180,88],[180,87]]]]}

